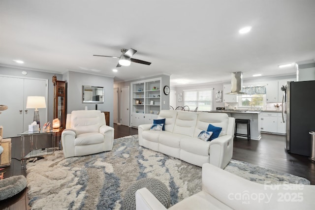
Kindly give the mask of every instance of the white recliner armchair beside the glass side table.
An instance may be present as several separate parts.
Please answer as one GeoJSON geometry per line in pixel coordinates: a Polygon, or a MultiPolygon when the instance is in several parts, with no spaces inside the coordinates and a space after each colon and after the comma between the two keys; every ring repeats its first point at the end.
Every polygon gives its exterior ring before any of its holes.
{"type": "Polygon", "coordinates": [[[99,110],[72,111],[61,138],[64,157],[95,154],[113,149],[114,128],[99,110]]]}

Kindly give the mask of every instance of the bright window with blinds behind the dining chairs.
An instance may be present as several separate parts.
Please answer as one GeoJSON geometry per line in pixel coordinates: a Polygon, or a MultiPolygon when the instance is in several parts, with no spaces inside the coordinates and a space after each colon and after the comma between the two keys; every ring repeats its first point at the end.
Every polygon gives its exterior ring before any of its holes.
{"type": "Polygon", "coordinates": [[[189,110],[198,107],[198,111],[211,111],[213,108],[213,88],[184,90],[184,106],[189,106],[189,110]]]}

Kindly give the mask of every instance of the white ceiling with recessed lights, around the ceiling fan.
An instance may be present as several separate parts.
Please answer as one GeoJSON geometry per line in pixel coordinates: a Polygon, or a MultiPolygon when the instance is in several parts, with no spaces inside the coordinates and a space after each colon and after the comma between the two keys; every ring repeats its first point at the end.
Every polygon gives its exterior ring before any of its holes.
{"type": "Polygon", "coordinates": [[[0,65],[189,84],[289,75],[315,59],[315,0],[0,0],[0,65]],[[244,26],[247,34],[239,34],[244,26]],[[122,48],[138,52],[118,68],[122,48]],[[24,64],[13,60],[24,60],[24,64]]]}

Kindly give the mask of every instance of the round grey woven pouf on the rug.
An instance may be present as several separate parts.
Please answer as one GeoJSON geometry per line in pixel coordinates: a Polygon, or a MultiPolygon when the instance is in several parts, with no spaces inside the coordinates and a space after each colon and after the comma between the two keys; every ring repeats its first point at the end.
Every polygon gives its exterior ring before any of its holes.
{"type": "Polygon", "coordinates": [[[168,209],[171,203],[170,193],[163,182],[154,178],[145,178],[136,181],[126,191],[122,209],[135,210],[136,209],[136,191],[141,188],[147,188],[163,206],[168,209]]]}

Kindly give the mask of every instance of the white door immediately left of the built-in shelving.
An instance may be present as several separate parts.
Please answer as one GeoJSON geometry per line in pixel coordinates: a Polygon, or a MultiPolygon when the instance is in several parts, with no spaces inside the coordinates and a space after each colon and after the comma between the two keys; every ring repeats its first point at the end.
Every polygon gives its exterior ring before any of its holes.
{"type": "Polygon", "coordinates": [[[122,88],[120,95],[120,122],[126,126],[129,126],[129,94],[129,87],[122,88]]]}

